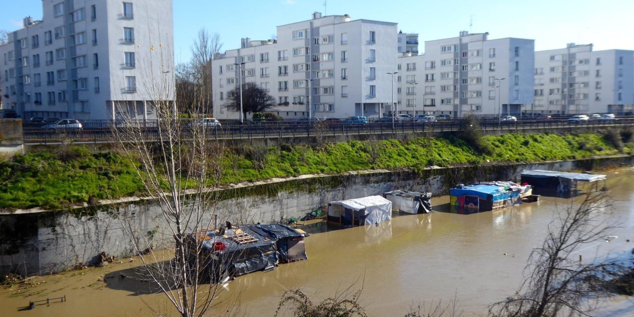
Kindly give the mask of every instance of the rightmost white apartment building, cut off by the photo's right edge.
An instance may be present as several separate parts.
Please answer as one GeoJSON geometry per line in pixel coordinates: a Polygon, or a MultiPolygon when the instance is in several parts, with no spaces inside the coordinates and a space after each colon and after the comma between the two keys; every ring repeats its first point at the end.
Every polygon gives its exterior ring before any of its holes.
{"type": "Polygon", "coordinates": [[[535,52],[534,110],[539,113],[634,111],[634,51],[592,44],[535,52]]]}

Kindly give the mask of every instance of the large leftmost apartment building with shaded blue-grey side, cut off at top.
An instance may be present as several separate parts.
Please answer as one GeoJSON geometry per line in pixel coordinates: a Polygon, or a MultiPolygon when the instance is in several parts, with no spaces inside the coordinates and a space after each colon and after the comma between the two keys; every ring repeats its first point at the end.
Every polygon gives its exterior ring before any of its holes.
{"type": "Polygon", "coordinates": [[[157,80],[174,70],[171,0],[42,0],[42,10],[0,46],[4,108],[23,119],[148,119],[150,100],[173,100],[174,82],[157,80]]]}

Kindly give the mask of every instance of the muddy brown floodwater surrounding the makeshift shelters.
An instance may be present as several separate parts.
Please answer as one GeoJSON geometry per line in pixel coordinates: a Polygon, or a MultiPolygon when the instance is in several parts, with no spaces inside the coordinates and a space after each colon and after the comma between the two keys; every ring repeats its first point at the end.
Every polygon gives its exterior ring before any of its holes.
{"type": "MultiPolygon", "coordinates": [[[[607,174],[608,194],[615,205],[606,219],[621,228],[610,233],[618,238],[579,250],[584,261],[605,254],[623,256],[634,248],[634,168],[607,174]]],[[[432,199],[435,210],[446,208],[448,202],[448,197],[432,199]]],[[[359,302],[370,316],[403,316],[412,302],[448,301],[454,294],[465,316],[484,315],[489,303],[513,294],[529,253],[543,241],[557,210],[569,203],[569,199],[542,197],[540,202],[471,215],[398,216],[379,226],[346,230],[326,231],[322,225],[311,230],[325,232],[306,238],[308,261],[240,276],[223,290],[223,297],[239,297],[245,316],[273,316],[281,294],[289,288],[302,288],[319,299],[363,283],[359,302]]],[[[32,281],[40,284],[31,288],[4,288],[0,316],[151,315],[145,303],[169,311],[162,295],[138,295],[147,283],[116,277],[103,280],[135,262],[37,277],[32,281]],[[67,296],[67,302],[19,311],[29,300],[61,295],[67,296]]],[[[634,299],[614,297],[604,306],[595,316],[634,316],[634,299]]]]}

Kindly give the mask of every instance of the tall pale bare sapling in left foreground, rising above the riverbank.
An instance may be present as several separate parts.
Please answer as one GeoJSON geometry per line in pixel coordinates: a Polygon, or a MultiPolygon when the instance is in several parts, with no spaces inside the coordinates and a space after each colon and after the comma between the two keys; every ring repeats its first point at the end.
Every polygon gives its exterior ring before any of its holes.
{"type": "MultiPolygon", "coordinates": [[[[152,125],[138,120],[127,111],[137,104],[130,100],[117,105],[120,120],[113,125],[119,147],[142,184],[141,196],[153,198],[160,209],[155,219],[160,230],[152,235],[142,230],[147,216],[136,214],[133,207],[120,210],[119,218],[132,252],[141,255],[138,275],[151,281],[154,290],[162,292],[180,316],[204,316],[219,304],[220,286],[213,283],[213,273],[224,269],[212,267],[216,264],[209,261],[201,243],[207,231],[215,229],[212,215],[216,213],[215,189],[222,177],[224,146],[212,141],[211,127],[180,119],[177,109],[197,105],[179,105],[181,100],[175,98],[182,95],[174,92],[170,49],[153,46],[150,58],[141,63],[137,73],[142,79],[138,94],[145,94],[143,100],[151,104],[158,120],[152,125]],[[148,129],[153,133],[148,134],[148,129]]],[[[190,94],[202,96],[204,89],[196,86],[190,94]]],[[[148,307],[162,314],[162,305],[148,307]]]]}

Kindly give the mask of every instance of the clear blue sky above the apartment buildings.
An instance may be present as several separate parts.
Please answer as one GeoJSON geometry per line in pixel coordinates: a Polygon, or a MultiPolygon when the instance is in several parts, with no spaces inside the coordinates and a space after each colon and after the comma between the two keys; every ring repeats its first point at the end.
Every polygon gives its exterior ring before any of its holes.
{"type": "MultiPolygon", "coordinates": [[[[0,29],[18,29],[27,15],[41,18],[41,1],[3,0],[0,29]]],[[[308,20],[313,11],[397,22],[403,32],[418,33],[419,41],[472,30],[489,32],[489,39],[535,39],[537,50],[563,48],[568,42],[593,43],[595,50],[634,50],[632,0],[330,0],[327,8],[323,4],[323,0],[174,0],[176,59],[190,58],[191,42],[201,27],[220,34],[223,50],[233,49],[240,46],[241,37],[270,39],[276,25],[308,20]]]]}

